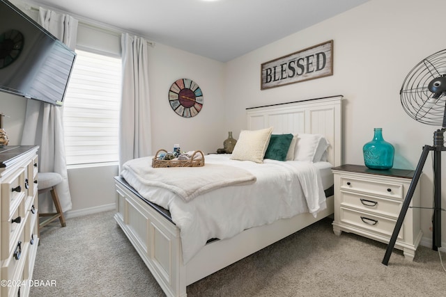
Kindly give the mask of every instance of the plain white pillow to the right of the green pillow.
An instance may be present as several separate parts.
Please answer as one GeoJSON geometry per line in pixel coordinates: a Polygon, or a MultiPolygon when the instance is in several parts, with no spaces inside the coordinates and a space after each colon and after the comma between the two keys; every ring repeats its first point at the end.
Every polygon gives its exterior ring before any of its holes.
{"type": "Polygon", "coordinates": [[[321,134],[298,134],[295,145],[295,161],[321,161],[323,153],[327,150],[328,141],[321,134]]]}

